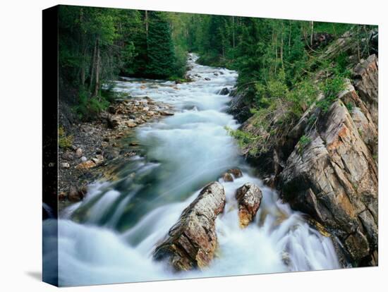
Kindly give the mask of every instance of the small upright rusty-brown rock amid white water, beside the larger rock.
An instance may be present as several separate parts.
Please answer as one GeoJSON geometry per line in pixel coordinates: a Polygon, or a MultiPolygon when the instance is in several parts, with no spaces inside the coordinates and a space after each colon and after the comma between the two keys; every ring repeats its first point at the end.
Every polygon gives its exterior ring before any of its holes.
{"type": "Polygon", "coordinates": [[[260,207],[262,192],[257,185],[245,183],[236,190],[236,199],[238,201],[238,218],[241,228],[250,224],[260,207]]]}

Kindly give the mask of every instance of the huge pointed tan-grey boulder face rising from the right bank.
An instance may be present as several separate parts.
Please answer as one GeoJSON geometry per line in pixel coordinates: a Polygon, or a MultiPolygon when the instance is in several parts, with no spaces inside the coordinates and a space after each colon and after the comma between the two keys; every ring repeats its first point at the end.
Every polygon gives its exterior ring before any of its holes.
{"type": "MultiPolygon", "coordinates": [[[[341,99],[356,95],[347,90],[341,99]]],[[[378,234],[377,165],[372,153],[341,100],[305,135],[308,144],[296,145],[279,174],[281,195],[293,209],[331,230],[353,262],[363,261],[375,252],[378,234]]]]}

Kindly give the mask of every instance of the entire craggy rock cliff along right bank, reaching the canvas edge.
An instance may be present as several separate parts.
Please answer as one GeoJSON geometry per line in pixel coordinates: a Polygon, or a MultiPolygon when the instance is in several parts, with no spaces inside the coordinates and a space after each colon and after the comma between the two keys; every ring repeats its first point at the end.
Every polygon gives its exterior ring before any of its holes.
{"type": "MultiPolygon", "coordinates": [[[[341,49],[354,53],[350,43],[339,39],[324,56],[334,58],[341,49]]],[[[243,152],[265,181],[279,189],[284,201],[338,238],[340,257],[348,264],[377,265],[377,56],[361,60],[351,71],[344,90],[326,111],[317,107],[325,98],[319,96],[267,151],[250,154],[250,149],[263,143],[253,139],[243,152]]],[[[232,106],[238,103],[240,99],[232,106]]],[[[265,135],[254,116],[241,130],[252,137],[265,135]]]]}

